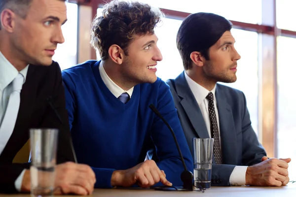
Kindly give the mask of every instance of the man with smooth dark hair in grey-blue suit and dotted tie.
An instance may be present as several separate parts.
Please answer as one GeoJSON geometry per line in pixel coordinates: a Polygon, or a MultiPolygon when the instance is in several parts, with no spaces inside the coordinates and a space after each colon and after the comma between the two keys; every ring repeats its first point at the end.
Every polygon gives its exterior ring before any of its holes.
{"type": "Polygon", "coordinates": [[[183,21],[177,47],[185,71],[168,80],[191,154],[192,138],[214,138],[212,185],[281,186],[291,159],[268,159],[252,129],[244,94],[217,84],[236,81],[240,55],[232,24],[212,13],[183,21]]]}

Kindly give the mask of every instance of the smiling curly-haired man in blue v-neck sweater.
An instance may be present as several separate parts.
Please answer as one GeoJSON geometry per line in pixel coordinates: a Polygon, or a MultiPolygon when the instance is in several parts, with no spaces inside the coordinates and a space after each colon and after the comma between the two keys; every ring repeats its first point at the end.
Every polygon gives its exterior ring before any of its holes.
{"type": "Polygon", "coordinates": [[[187,168],[192,157],[169,86],[155,75],[162,60],[154,27],[163,14],[139,2],[112,1],[94,19],[91,44],[102,61],[63,71],[66,107],[79,163],[96,174],[96,188],[182,186],[184,171],[174,138],[150,109],[175,131],[187,168]],[[146,160],[154,148],[157,161],[146,160]]]}

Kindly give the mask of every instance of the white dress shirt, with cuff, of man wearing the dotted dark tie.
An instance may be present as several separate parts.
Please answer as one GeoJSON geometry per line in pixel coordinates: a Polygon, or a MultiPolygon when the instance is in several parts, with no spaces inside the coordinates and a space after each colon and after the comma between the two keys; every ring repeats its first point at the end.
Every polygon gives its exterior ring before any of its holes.
{"type": "MultiPolygon", "coordinates": [[[[214,105],[215,105],[215,112],[216,112],[216,117],[217,117],[217,122],[219,122],[219,114],[218,114],[218,108],[217,108],[217,99],[215,95],[216,91],[216,85],[213,88],[213,90],[208,91],[195,81],[193,81],[187,73],[184,71],[185,74],[185,79],[189,85],[190,90],[193,93],[194,98],[196,99],[196,102],[201,110],[202,116],[204,118],[204,121],[207,126],[207,130],[209,133],[209,136],[211,137],[211,122],[210,122],[210,116],[209,116],[209,101],[206,99],[207,95],[212,92],[214,95],[214,105]]],[[[219,135],[220,135],[220,124],[218,124],[218,129],[219,129],[219,135]]],[[[220,140],[221,141],[221,140],[220,140]]],[[[229,183],[230,185],[244,185],[246,183],[246,171],[247,171],[248,166],[235,166],[230,178],[229,178],[229,183]]]]}

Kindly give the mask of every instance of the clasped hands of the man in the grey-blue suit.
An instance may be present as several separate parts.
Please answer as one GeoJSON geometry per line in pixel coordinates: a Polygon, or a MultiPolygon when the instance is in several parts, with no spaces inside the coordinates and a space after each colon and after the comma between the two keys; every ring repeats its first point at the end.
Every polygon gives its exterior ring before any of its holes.
{"type": "Polygon", "coordinates": [[[291,159],[268,159],[262,157],[261,163],[249,166],[246,171],[246,185],[282,186],[289,182],[288,163],[291,159]]]}

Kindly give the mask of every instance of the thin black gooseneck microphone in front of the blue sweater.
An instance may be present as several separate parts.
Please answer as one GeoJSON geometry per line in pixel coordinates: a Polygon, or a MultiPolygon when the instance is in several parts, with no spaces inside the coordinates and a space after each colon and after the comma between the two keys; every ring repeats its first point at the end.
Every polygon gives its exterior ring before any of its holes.
{"type": "MultiPolygon", "coordinates": [[[[180,149],[180,146],[178,144],[176,135],[173,131],[173,129],[171,128],[171,126],[169,125],[169,123],[163,118],[163,116],[160,114],[160,112],[156,109],[156,107],[153,104],[149,105],[149,108],[164,122],[164,124],[169,128],[169,130],[171,131],[174,140],[175,140],[175,144],[177,146],[183,167],[184,167],[184,171],[181,173],[181,180],[183,182],[183,186],[178,187],[178,186],[172,186],[173,188],[175,188],[177,191],[193,191],[193,184],[192,184],[192,179],[193,179],[193,174],[192,172],[190,172],[189,170],[187,170],[187,167],[185,165],[184,162],[184,158],[180,149]]],[[[158,187],[155,188],[156,190],[172,190],[172,187],[158,187]]]]}

